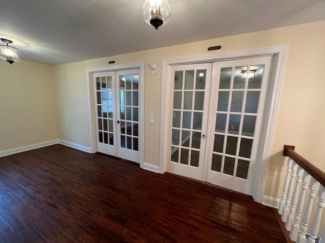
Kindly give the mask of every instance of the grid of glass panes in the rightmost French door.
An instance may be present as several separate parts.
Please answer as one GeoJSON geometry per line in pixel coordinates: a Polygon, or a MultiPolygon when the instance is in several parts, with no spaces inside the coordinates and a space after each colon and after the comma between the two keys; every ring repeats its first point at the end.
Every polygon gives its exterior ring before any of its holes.
{"type": "MultiPolygon", "coordinates": [[[[214,150],[212,153],[221,158],[220,173],[243,179],[247,179],[258,98],[261,93],[261,89],[255,87],[258,87],[256,84],[261,83],[264,70],[264,65],[255,67],[258,69],[254,68],[254,71],[248,74],[247,70],[252,70],[249,65],[221,68],[215,116],[214,147],[220,147],[218,136],[222,136],[223,144],[218,151],[214,150]],[[255,72],[258,72],[257,82],[254,81],[252,74],[255,72]],[[225,85],[225,77],[228,77],[230,85],[225,85]],[[254,90],[251,91],[250,87],[254,90]]],[[[213,170],[215,167],[212,163],[210,169],[213,170]]]]}

